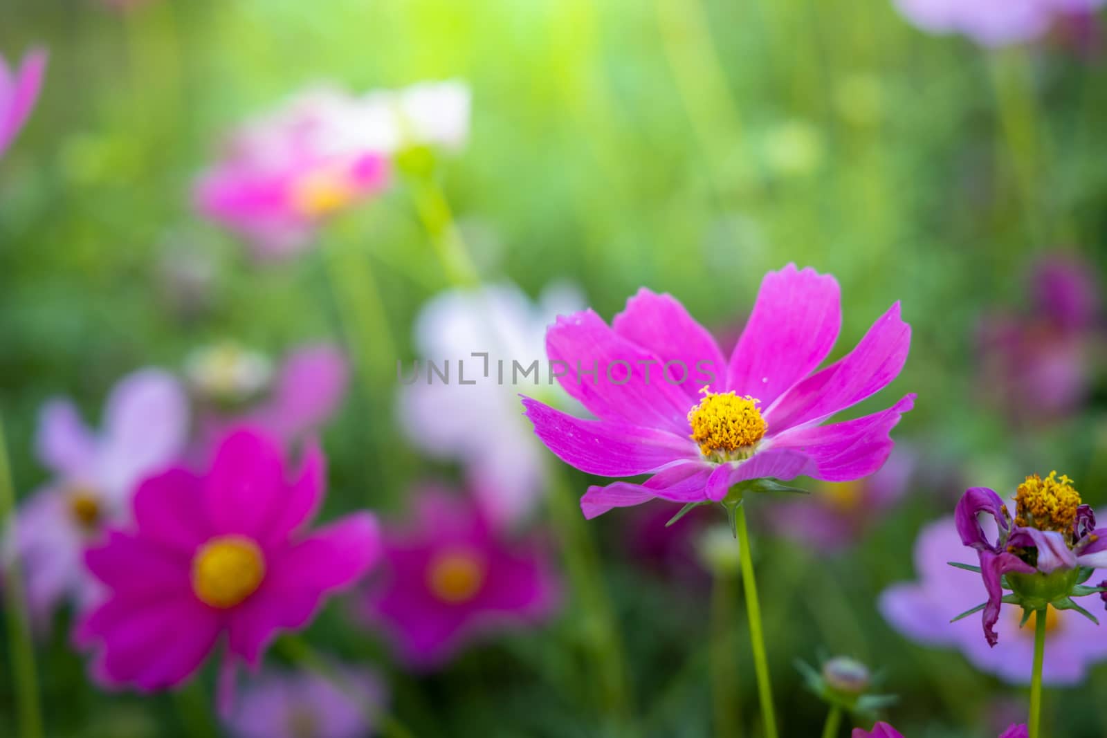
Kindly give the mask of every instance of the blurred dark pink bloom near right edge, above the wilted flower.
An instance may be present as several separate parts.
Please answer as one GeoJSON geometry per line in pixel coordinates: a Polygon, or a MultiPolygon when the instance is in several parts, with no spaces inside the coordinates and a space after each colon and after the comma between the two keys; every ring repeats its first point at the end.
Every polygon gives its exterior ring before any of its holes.
{"type": "Polygon", "coordinates": [[[981,382],[1012,415],[1025,407],[1016,399],[1034,397],[1032,419],[1039,423],[1077,409],[1087,396],[1101,340],[1100,302],[1094,268],[1073,256],[1042,258],[1027,290],[1023,312],[995,312],[981,321],[981,382]]]}

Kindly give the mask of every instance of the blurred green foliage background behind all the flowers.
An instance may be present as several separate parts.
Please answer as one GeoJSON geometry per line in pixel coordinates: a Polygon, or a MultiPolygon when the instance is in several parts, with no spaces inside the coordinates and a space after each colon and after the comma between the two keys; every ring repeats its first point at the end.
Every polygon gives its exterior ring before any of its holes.
{"type": "MultiPolygon", "coordinates": [[[[568,281],[604,318],[648,285],[733,335],[767,270],[810,264],[842,285],[835,356],[902,300],[913,344],[888,396],[919,393],[897,430],[921,459],[910,489],[832,555],[759,527],[778,710],[785,735],[816,734],[825,707],[793,661],[842,653],[883,672],[907,735],[993,736],[1003,716],[1023,718],[1020,688],[912,645],[875,603],[913,578],[917,532],[952,511],[965,481],[1010,490],[1057,468],[1107,503],[1099,324],[1083,352],[1085,398],[1057,413],[1039,408],[1033,383],[987,392],[999,381],[982,377],[979,342],[986,315],[1037,316],[1031,284],[1045,254],[1083,259],[1093,279],[1107,259],[1107,67],[1099,21],[1083,22],[1090,40],[1056,30],[987,50],[923,33],[890,0],[152,0],[126,12],[3,0],[6,58],[51,52],[39,105],[0,160],[0,408],[15,489],[44,479],[32,439],[45,398],[69,394],[94,417],[123,374],[178,371],[227,337],[275,355],[328,336],[350,346],[356,378],[323,436],[327,514],[393,516],[428,468],[459,477],[427,464],[395,414],[395,360],[417,355],[420,306],[449,287],[404,187],[328,227],[322,249],[266,267],[196,216],[190,187],[228,127],[304,85],[463,80],[472,136],[439,175],[483,279],[532,297],[568,281]],[[387,336],[358,318],[370,289],[387,336]]],[[[571,499],[589,484],[561,474],[551,493],[571,499]]],[[[713,597],[695,564],[646,565],[628,543],[639,518],[614,511],[575,534],[600,552],[588,561],[618,623],[625,714],[596,687],[594,613],[579,592],[544,627],[428,676],[393,664],[341,605],[306,638],[385,674],[393,713],[420,736],[718,735],[711,661],[723,644],[725,703],[754,730],[739,586],[723,575],[713,597]]],[[[66,622],[38,648],[50,735],[219,729],[210,668],[179,694],[105,694],[66,622]]],[[[15,735],[9,675],[2,735],[15,735]]],[[[1107,664],[1051,690],[1047,734],[1107,734],[1105,690],[1107,664]]]]}

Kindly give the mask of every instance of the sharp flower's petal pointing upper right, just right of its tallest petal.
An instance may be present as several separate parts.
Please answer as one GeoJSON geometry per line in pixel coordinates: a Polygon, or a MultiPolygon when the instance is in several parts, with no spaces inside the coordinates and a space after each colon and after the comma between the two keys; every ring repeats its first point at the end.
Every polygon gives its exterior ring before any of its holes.
{"type": "Polygon", "coordinates": [[[911,347],[911,326],[897,302],[841,360],[784,394],[765,413],[769,434],[817,423],[883,389],[894,380],[911,347]]]}

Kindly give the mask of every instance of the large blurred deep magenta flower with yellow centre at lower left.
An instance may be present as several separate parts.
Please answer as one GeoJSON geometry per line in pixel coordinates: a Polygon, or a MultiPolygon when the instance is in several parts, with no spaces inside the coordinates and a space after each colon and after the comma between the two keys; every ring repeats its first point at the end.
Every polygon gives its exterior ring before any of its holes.
{"type": "Polygon", "coordinates": [[[143,692],[180,684],[220,642],[226,667],[257,667],[279,630],[304,627],[327,594],[380,555],[368,512],[306,530],[323,496],[324,459],[310,445],[292,471],[276,439],[244,428],[210,468],[146,480],[134,526],[111,532],[85,562],[107,594],[75,630],[93,674],[143,692]]]}

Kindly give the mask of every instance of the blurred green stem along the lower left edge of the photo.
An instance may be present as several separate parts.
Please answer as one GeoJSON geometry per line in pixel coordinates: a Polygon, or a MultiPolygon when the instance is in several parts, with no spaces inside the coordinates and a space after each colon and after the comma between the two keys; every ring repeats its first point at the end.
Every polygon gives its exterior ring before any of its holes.
{"type": "MultiPolygon", "coordinates": [[[[9,540],[19,540],[15,523],[15,490],[11,480],[11,462],[8,457],[8,440],[4,438],[3,418],[0,417],[0,530],[6,530],[9,540]]],[[[31,641],[31,623],[27,611],[27,594],[23,591],[23,572],[18,543],[8,558],[4,581],[8,604],[8,643],[11,648],[11,669],[15,685],[19,710],[20,736],[42,738],[42,708],[39,704],[39,677],[34,667],[34,646],[31,641]]]]}

